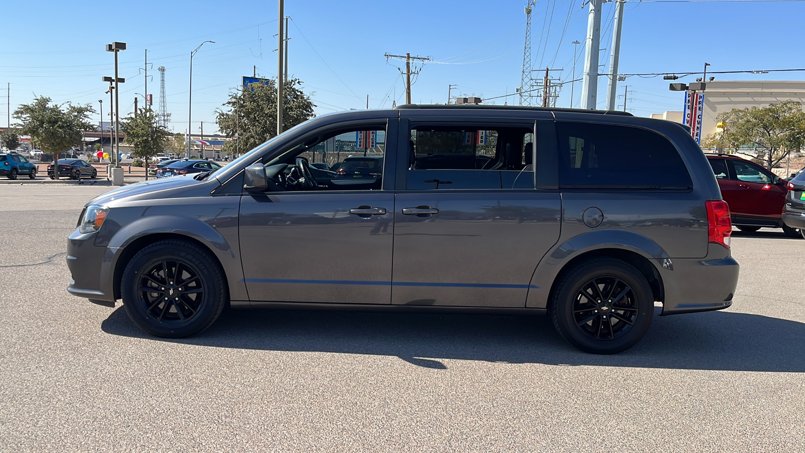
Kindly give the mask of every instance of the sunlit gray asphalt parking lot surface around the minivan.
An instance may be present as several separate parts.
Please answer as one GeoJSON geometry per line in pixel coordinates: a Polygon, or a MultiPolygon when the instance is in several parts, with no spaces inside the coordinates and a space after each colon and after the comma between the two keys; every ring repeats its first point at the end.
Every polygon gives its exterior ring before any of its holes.
{"type": "Polygon", "coordinates": [[[619,355],[497,315],[237,309],[165,340],[65,290],[108,189],[0,186],[0,451],[805,451],[803,239],[736,232],[733,306],[619,355]]]}

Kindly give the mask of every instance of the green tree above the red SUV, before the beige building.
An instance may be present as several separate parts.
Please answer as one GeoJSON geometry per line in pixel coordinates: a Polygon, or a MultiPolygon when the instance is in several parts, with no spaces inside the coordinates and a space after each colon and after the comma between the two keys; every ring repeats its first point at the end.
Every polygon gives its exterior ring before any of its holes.
{"type": "Polygon", "coordinates": [[[725,123],[725,131],[708,135],[704,139],[705,148],[763,148],[762,161],[769,170],[805,143],[805,112],[800,102],[733,109],[719,114],[716,121],[725,123]]]}

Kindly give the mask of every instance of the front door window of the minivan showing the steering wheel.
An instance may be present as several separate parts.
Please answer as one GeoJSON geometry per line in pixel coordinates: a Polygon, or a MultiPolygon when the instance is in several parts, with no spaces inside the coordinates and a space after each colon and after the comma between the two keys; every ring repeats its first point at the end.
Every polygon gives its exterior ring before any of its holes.
{"type": "Polygon", "coordinates": [[[385,157],[385,125],[349,127],[296,143],[266,164],[266,177],[274,191],[379,190],[385,157]]]}

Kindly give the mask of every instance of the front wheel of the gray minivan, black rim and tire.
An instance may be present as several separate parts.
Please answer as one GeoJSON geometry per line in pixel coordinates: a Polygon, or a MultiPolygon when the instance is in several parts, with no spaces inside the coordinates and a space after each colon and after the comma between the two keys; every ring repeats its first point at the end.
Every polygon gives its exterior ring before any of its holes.
{"type": "Polygon", "coordinates": [[[158,337],[198,334],[215,322],[229,302],[224,271],[212,253],[177,239],[138,251],[123,271],[120,288],[131,321],[158,337]],[[171,278],[177,269],[183,280],[171,278]],[[155,291],[141,290],[144,287],[155,291]]]}

